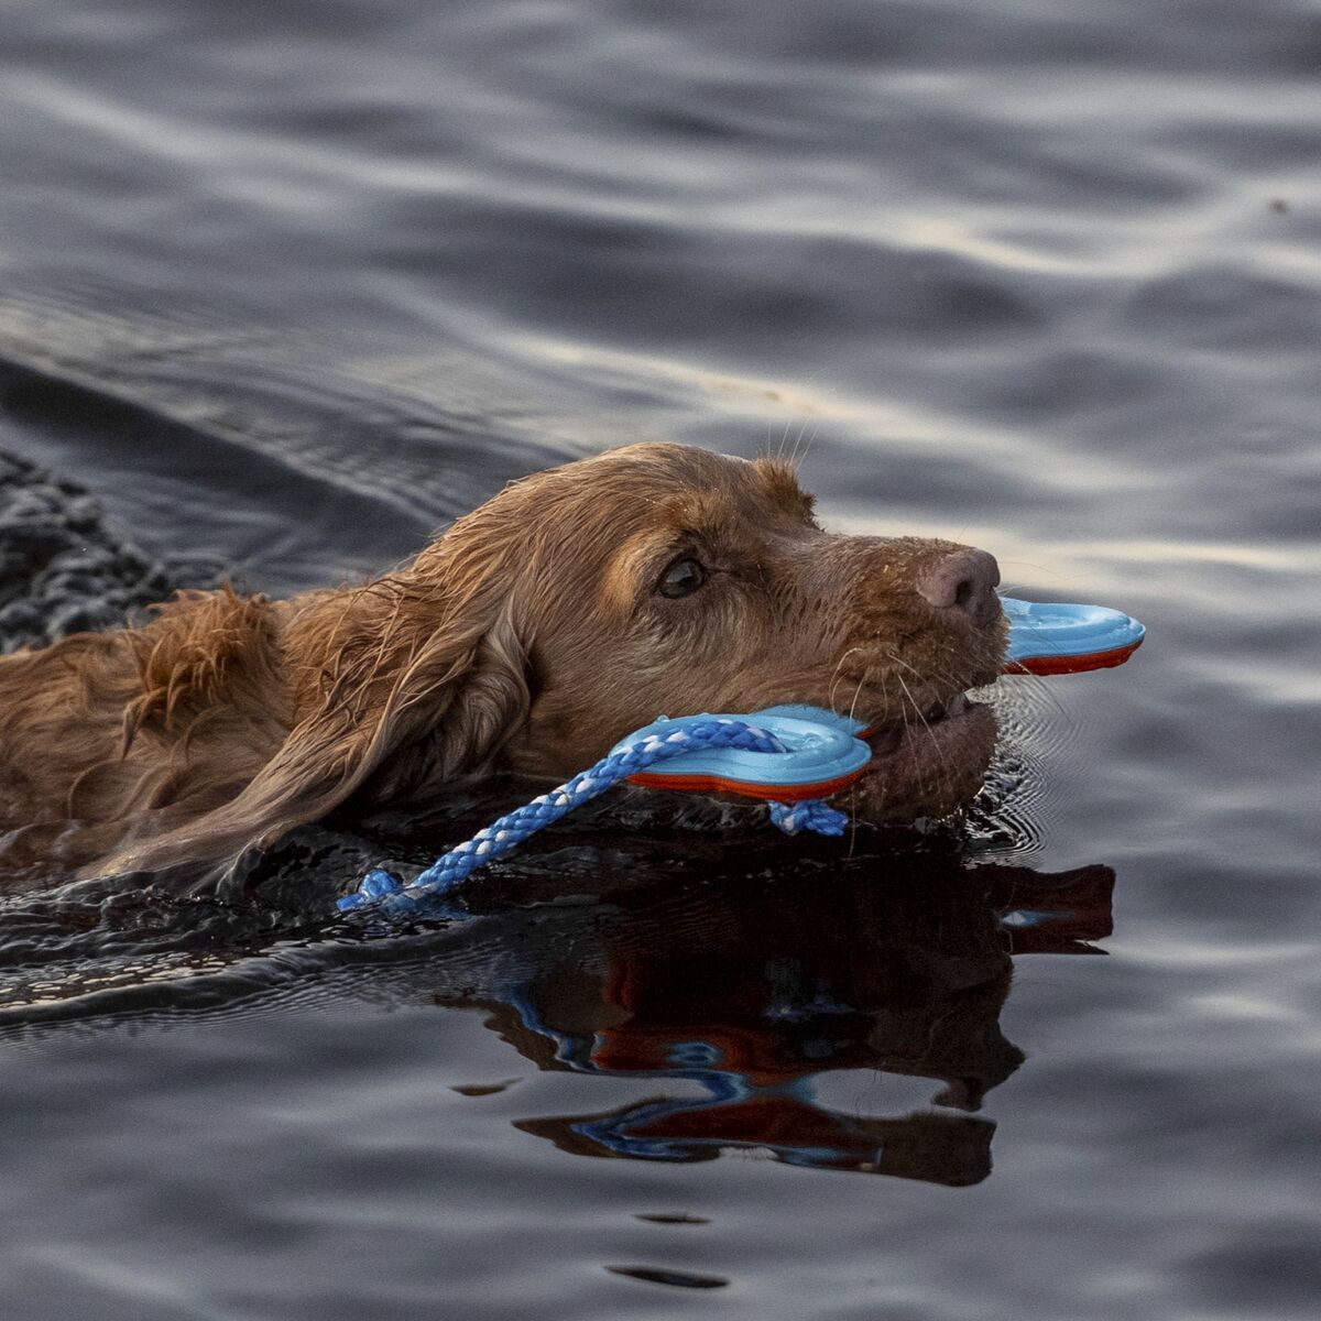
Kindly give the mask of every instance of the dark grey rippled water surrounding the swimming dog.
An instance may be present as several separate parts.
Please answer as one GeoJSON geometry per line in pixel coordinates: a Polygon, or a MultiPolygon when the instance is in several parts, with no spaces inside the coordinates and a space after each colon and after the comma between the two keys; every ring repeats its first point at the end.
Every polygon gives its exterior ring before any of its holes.
{"type": "Polygon", "coordinates": [[[148,556],[787,440],[1151,627],[1001,683],[962,848],[622,799],[328,922],[495,786],[5,897],[4,1317],[1316,1316],[1318,67],[1314,0],[0,3],[0,449],[148,556]]]}

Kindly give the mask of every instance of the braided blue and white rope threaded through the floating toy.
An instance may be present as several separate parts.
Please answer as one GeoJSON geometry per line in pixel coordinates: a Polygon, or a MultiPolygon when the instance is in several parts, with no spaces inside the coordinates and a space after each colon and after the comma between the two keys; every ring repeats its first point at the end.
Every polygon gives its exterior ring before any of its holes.
{"type": "MultiPolygon", "coordinates": [[[[427,900],[443,898],[457,889],[480,867],[507,853],[546,826],[567,816],[575,807],[590,802],[621,779],[682,753],[704,748],[741,748],[746,752],[785,753],[789,749],[771,733],[745,720],[713,716],[670,733],[651,734],[629,744],[594,766],[580,771],[559,789],[540,794],[527,806],[502,816],[478,831],[470,840],[452,848],[408,885],[380,868],[366,875],[353,894],[338,901],[341,913],[376,906],[390,914],[411,911],[427,900]]],[[[770,819],[786,835],[807,830],[818,835],[843,835],[848,818],[820,799],[770,804],[770,819]]]]}

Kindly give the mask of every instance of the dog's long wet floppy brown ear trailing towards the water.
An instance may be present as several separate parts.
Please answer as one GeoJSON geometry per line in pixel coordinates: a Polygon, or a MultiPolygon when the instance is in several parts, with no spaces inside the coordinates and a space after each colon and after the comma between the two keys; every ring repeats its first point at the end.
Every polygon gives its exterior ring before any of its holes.
{"type": "Polygon", "coordinates": [[[336,651],[347,614],[337,612],[320,641],[337,657],[324,700],[247,787],[162,835],[127,843],[89,872],[226,857],[273,843],[351,797],[406,801],[489,768],[530,707],[509,604],[483,620],[469,598],[437,625],[441,602],[411,598],[407,579],[366,592],[376,597],[374,624],[363,630],[359,618],[336,651]]]}

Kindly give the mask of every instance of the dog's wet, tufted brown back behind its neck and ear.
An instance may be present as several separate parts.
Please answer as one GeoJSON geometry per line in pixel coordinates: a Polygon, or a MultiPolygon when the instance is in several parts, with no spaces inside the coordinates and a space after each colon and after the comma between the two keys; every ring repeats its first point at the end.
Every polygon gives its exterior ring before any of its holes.
{"type": "Polygon", "coordinates": [[[0,658],[0,865],[77,867],[148,818],[217,807],[291,721],[273,608],[229,589],[0,658]]]}

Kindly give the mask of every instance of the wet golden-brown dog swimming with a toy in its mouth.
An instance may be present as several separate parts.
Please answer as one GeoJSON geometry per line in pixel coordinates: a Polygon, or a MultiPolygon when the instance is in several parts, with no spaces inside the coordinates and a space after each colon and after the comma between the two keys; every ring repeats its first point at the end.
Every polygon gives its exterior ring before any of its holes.
{"type": "Polygon", "coordinates": [[[9,867],[215,860],[345,803],[564,778],[658,713],[807,701],[875,729],[855,810],[979,787],[995,560],[836,536],[793,472],[634,445],[538,473],[402,569],[289,601],[181,593],[141,629],[0,659],[9,867]]]}

